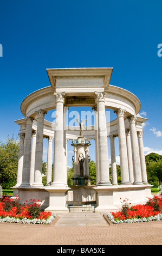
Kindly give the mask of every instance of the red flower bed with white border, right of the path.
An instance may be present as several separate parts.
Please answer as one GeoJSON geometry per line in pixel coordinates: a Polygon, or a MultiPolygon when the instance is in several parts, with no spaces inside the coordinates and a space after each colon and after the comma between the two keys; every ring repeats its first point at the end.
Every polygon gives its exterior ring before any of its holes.
{"type": "Polygon", "coordinates": [[[144,205],[129,204],[124,200],[121,211],[107,214],[109,220],[115,224],[162,220],[162,198],[155,196],[144,205]]]}

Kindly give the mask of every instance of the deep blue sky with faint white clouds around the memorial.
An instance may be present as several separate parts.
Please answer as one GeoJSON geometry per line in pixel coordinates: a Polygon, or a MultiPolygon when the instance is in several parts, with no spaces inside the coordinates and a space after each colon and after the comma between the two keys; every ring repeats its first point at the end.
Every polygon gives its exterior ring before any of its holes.
{"type": "Polygon", "coordinates": [[[50,85],[47,68],[113,67],[110,84],[135,94],[148,118],[145,154],[162,155],[161,10],[161,0],[1,1],[0,141],[17,137],[21,102],[50,85]]]}

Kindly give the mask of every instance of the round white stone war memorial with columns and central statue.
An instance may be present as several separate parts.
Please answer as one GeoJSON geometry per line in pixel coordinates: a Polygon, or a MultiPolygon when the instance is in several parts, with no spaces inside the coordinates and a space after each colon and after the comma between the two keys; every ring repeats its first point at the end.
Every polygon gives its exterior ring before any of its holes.
{"type": "Polygon", "coordinates": [[[140,101],[134,94],[109,84],[112,70],[47,69],[50,86],[31,93],[22,101],[24,118],[15,121],[20,125],[20,153],[14,187],[14,194],[22,202],[30,198],[41,199],[42,209],[54,214],[71,211],[76,202],[80,202],[77,210],[84,211],[86,205],[93,205],[92,211],[107,213],[119,210],[121,197],[128,198],[132,204],[146,203],[152,197],[142,139],[142,123],[147,119],[137,116],[140,101]],[[86,120],[81,119],[77,119],[78,126],[66,125],[67,109],[78,106],[92,107],[93,125],[86,126],[86,120]],[[113,109],[114,120],[106,122],[106,108],[113,109]],[[51,109],[55,109],[55,122],[46,120],[51,109]],[[42,184],[43,138],[48,139],[46,186],[42,184]],[[116,173],[117,138],[120,184],[116,173]],[[74,150],[72,186],[67,184],[68,140],[71,140],[74,150]],[[90,185],[91,140],[95,141],[96,185],[90,185]],[[108,161],[109,155],[111,162],[108,161]]]}

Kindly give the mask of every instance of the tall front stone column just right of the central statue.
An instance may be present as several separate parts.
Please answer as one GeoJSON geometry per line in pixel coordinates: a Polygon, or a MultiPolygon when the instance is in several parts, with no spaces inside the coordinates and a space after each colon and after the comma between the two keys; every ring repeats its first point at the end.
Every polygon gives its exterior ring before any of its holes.
{"type": "Polygon", "coordinates": [[[108,145],[107,145],[107,127],[105,115],[105,95],[95,93],[98,109],[98,153],[99,153],[99,182],[98,185],[112,185],[109,181],[109,163],[108,163],[108,145]]]}

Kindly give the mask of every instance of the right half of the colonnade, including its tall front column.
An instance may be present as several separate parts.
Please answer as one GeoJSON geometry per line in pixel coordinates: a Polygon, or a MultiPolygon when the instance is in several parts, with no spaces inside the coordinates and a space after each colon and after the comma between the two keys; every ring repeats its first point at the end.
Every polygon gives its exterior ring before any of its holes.
{"type": "MultiPolygon", "coordinates": [[[[98,131],[96,131],[97,139],[95,138],[96,144],[96,180],[97,184],[106,185],[118,185],[117,172],[116,172],[116,159],[115,159],[115,143],[114,139],[116,135],[109,135],[111,144],[111,167],[112,167],[112,184],[109,182],[108,172],[108,151],[107,151],[107,135],[106,135],[106,122],[103,117],[103,109],[105,103],[105,93],[96,94],[97,109],[96,121],[98,121],[98,131]],[[103,106],[100,106],[102,102],[103,106]],[[101,115],[101,116],[100,116],[101,115]],[[100,119],[102,119],[100,123],[100,119]],[[102,131],[101,131],[102,130],[102,131]],[[101,143],[101,144],[100,144],[101,143]],[[105,147],[102,147],[104,145],[105,147]],[[105,164],[104,167],[101,166],[105,164]],[[105,174],[107,170],[107,176],[105,174]],[[105,174],[102,179],[102,172],[105,174]]],[[[120,152],[120,168],[121,168],[121,183],[120,185],[147,185],[147,173],[145,164],[144,144],[142,134],[144,132],[137,131],[136,129],[136,117],[135,115],[128,116],[129,129],[125,129],[125,109],[117,109],[114,111],[118,119],[118,137],[119,137],[119,152],[120,152]]]]}

